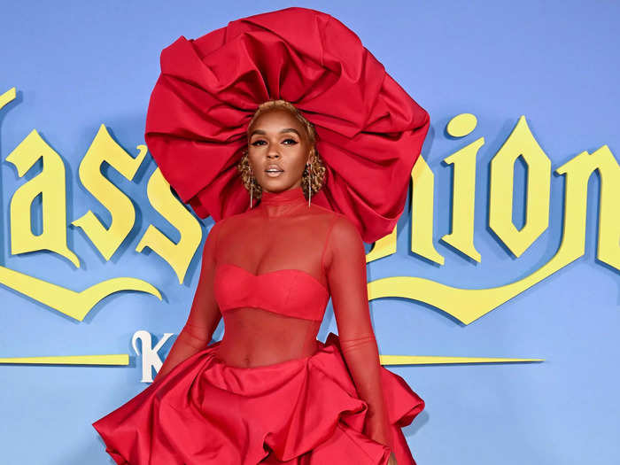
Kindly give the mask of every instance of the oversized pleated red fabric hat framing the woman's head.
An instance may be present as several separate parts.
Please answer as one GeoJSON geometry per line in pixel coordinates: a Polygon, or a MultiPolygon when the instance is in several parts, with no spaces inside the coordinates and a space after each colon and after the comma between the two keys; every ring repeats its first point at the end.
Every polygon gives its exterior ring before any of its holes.
{"type": "Polygon", "coordinates": [[[306,8],[237,19],[161,52],[145,138],[182,201],[214,221],[249,208],[236,164],[270,99],[314,123],[326,178],[312,201],[344,213],[367,243],[391,233],[429,115],[351,29],[306,8]]]}

